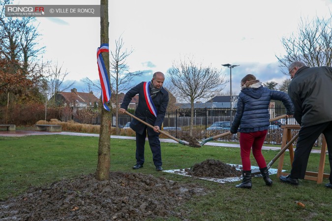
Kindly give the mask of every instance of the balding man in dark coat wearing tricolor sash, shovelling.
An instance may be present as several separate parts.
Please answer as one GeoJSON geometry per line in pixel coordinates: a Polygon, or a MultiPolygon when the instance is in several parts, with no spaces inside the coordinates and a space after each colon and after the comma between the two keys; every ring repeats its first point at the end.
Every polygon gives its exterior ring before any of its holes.
{"type": "Polygon", "coordinates": [[[133,166],[133,169],[143,167],[145,138],[148,133],[153,164],[157,171],[163,170],[158,130],[164,121],[168,105],[168,92],[162,86],[164,81],[165,75],[162,72],[155,72],[151,82],[139,83],[124,95],[120,112],[124,113],[131,99],[138,94],[139,100],[135,115],[154,126],[152,129],[136,119],[133,119],[130,123],[130,128],[136,132],[136,165],[133,166]]]}

